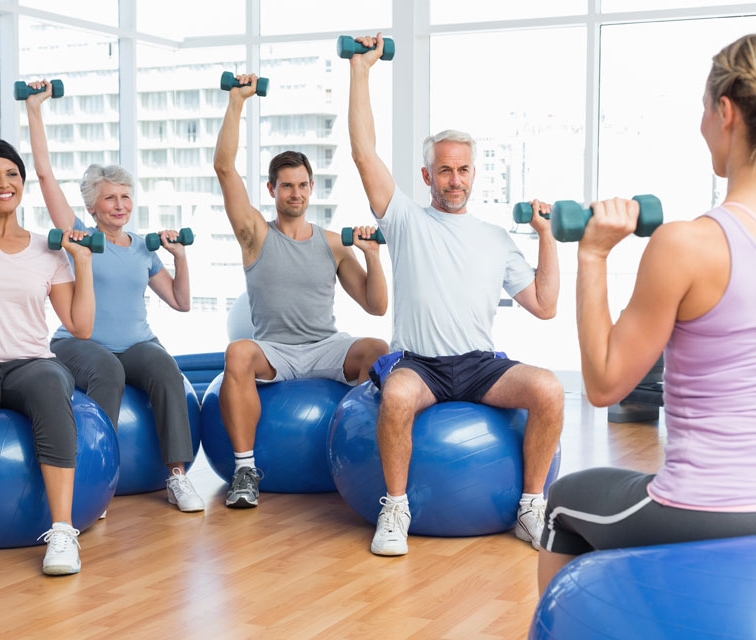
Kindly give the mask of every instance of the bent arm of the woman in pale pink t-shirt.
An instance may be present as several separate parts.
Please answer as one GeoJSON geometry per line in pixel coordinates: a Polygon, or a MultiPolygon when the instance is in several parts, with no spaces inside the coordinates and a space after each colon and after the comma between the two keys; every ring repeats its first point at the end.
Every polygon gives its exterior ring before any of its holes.
{"type": "Polygon", "coordinates": [[[92,252],[69,241],[69,236],[80,240],[82,231],[66,231],[62,247],[73,257],[75,280],[50,287],[50,304],[63,326],[76,338],[88,339],[94,328],[95,298],[92,276],[92,252]]]}

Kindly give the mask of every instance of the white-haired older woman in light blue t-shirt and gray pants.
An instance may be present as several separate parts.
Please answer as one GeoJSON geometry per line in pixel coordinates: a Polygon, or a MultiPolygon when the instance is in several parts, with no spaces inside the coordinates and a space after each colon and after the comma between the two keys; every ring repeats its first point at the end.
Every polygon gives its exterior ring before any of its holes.
{"type": "Polygon", "coordinates": [[[53,175],[42,121],[42,103],[52,93],[47,81],[31,83],[44,89],[29,96],[29,117],[34,168],[42,196],[56,227],[101,231],[105,251],[93,261],[97,311],[92,337],[81,340],[65,328],[52,337],[51,349],[71,370],[84,389],[118,425],[126,384],[143,389],[150,398],[163,462],[167,467],[168,501],[181,511],[201,511],[202,498],[185,474],[194,459],[189,412],[181,371],[160,344],[147,322],[144,291],[149,286],[177,311],[189,311],[189,267],[178,232],[161,232],[162,246],[173,255],[173,276],[143,237],[127,231],[134,206],[133,179],[122,167],[90,165],[84,173],[81,194],[94,219],[88,227],[76,217],[53,175]]]}

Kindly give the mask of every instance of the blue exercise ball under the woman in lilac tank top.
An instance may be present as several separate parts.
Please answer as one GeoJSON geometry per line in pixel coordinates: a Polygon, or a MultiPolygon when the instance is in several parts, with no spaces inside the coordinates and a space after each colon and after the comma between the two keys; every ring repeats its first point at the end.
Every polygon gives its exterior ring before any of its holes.
{"type": "Polygon", "coordinates": [[[756,637],[756,536],[578,557],[549,583],[529,640],[756,637]]]}

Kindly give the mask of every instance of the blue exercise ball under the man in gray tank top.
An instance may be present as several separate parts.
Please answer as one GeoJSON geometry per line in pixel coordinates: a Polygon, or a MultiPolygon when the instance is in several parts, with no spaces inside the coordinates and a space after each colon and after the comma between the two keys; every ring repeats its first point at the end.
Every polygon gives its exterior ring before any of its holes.
{"type": "MultiPolygon", "coordinates": [[[[220,374],[202,400],[202,449],[226,482],[234,475],[234,450],[223,425],[218,392],[220,374]]],[[[255,466],[265,477],[260,490],[271,493],[323,493],[336,487],[328,467],[326,440],[331,416],[349,385],[322,378],[261,384],[261,415],[255,436],[255,466]]]]}

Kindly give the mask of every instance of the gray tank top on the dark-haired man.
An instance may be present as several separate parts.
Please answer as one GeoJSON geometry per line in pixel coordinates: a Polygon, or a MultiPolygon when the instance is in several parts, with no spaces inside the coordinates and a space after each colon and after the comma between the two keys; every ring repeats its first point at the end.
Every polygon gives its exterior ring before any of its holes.
{"type": "Polygon", "coordinates": [[[336,260],[321,227],[292,240],[268,221],[260,255],[244,272],[255,340],[307,344],[336,333],[336,260]]]}

